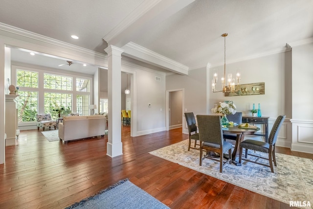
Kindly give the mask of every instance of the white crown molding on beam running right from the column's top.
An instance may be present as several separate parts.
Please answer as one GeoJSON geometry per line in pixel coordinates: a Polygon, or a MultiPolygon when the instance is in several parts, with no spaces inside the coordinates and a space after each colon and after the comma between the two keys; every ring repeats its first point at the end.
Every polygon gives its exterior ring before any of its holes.
{"type": "Polygon", "coordinates": [[[146,60],[150,63],[154,63],[157,66],[160,66],[161,68],[173,71],[175,73],[188,75],[189,69],[188,66],[178,63],[174,60],[171,60],[163,55],[151,51],[150,49],[144,48],[134,42],[129,42],[122,48],[125,49],[124,53],[130,55],[131,57],[146,60]],[[144,58],[141,58],[140,55],[144,55],[144,58]]]}

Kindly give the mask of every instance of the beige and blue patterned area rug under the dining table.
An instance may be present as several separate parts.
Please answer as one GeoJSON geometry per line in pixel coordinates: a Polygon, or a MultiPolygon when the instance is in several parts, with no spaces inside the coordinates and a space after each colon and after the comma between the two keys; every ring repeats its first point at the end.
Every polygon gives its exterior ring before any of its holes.
{"type": "MultiPolygon", "coordinates": [[[[310,201],[313,206],[312,159],[276,153],[274,173],[269,167],[245,161],[242,161],[242,166],[226,164],[223,173],[220,173],[219,162],[204,159],[199,166],[200,151],[188,151],[188,140],[149,153],[286,204],[290,201],[310,201]]],[[[261,159],[259,162],[262,162],[261,159]]]]}

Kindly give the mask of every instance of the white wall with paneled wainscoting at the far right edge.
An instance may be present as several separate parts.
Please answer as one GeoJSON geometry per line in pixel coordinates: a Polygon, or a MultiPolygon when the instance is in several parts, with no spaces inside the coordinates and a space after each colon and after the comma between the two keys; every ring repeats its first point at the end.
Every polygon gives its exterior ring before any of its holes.
{"type": "Polygon", "coordinates": [[[292,47],[292,150],[313,153],[313,43],[292,47]]]}

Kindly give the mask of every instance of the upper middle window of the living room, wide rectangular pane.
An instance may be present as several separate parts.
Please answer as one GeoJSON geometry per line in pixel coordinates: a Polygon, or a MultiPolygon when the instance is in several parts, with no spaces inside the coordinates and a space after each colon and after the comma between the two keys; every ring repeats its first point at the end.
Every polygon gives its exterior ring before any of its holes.
{"type": "Polygon", "coordinates": [[[44,74],[44,88],[57,90],[72,90],[72,78],[53,74],[44,74]]]}

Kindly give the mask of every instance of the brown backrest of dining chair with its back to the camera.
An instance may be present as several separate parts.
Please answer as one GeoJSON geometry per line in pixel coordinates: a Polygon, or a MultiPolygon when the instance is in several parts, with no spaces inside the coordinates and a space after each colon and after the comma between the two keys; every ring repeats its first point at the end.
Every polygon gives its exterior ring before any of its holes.
{"type": "Polygon", "coordinates": [[[224,144],[221,116],[197,115],[199,139],[201,142],[224,144]]]}

